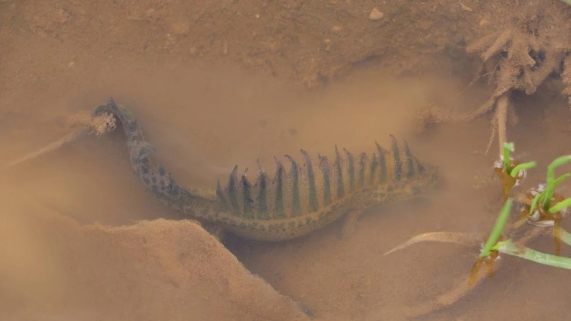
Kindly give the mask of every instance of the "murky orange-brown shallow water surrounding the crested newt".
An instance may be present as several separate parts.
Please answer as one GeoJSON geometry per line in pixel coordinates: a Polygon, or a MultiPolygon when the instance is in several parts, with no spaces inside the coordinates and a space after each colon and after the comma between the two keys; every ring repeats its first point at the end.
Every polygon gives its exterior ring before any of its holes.
{"type": "MultiPolygon", "coordinates": [[[[157,148],[156,159],[188,186],[214,187],[215,180],[224,181],[235,164],[255,168],[258,158],[272,172],[272,157],[286,153],[299,157],[300,148],[315,156],[332,155],[335,144],[372,152],[375,140],[387,145],[391,133],[406,137],[413,153],[441,166],[444,186],[417,200],[368,210],[356,233],[345,241],[337,239],[340,225],[332,224],[289,242],[233,239],[228,247],[252,273],[329,320],[376,320],[379,311],[396,319],[403,306],[441,294],[468,275],[476,254],[473,249],[431,243],[389,257],[382,254],[427,231],[490,229],[499,189],[479,186],[496,158],[494,147],[491,155],[483,154],[489,123],[442,125],[419,137],[413,135],[412,121],[423,104],[438,101],[456,110],[472,108],[486,98],[485,91],[469,91],[461,99],[452,99],[463,89],[463,80],[387,79],[380,72],[357,71],[308,93],[231,65],[120,65],[63,76],[50,92],[29,92],[33,99],[19,96],[15,111],[13,105],[2,106],[13,112],[1,117],[0,164],[59,138],[66,133],[68,115],[90,110],[110,95],[134,110],[147,139],[157,148]]],[[[566,142],[571,138],[537,126],[545,108],[537,107],[541,102],[538,97],[518,101],[518,108],[525,111],[518,127],[508,133],[518,153],[540,162],[540,168],[568,152],[566,142]]],[[[563,100],[549,104],[553,109],[567,108],[563,100]]],[[[532,174],[528,182],[540,179],[541,175],[532,174]]],[[[10,209],[31,202],[57,208],[84,224],[122,225],[177,215],[138,184],[118,132],[78,141],[3,173],[0,190],[9,204],[4,209],[7,222],[18,222],[9,218],[10,209]]],[[[35,239],[25,224],[12,226],[11,233],[3,234],[3,243],[11,250],[3,262],[8,266],[3,278],[25,279],[35,267],[50,262],[34,250],[50,239],[35,239]],[[30,242],[23,248],[33,255],[18,255],[11,241],[22,239],[30,242]]],[[[545,239],[533,246],[548,251],[552,245],[545,239]]],[[[565,271],[502,259],[507,262],[492,281],[425,319],[532,320],[545,314],[550,319],[564,318],[571,295],[561,282],[565,271]]],[[[49,293],[57,282],[42,285],[41,290],[49,293]]]]}

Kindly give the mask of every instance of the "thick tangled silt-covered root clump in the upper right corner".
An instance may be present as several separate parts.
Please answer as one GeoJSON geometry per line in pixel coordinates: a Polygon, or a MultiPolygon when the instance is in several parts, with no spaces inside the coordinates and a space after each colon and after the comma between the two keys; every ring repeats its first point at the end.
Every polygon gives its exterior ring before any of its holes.
{"type": "Polygon", "coordinates": [[[564,15],[563,9],[567,9],[564,4],[553,5],[561,5],[561,8],[549,10],[545,15],[537,7],[532,7],[526,14],[517,12],[511,26],[467,46],[468,54],[477,54],[482,59],[477,78],[485,72],[489,83],[495,87],[492,95],[476,111],[469,113],[453,115],[432,108],[421,115],[422,127],[444,121],[473,121],[493,112],[492,135],[486,153],[497,133],[501,155],[507,136],[506,123],[517,123],[510,104],[512,90],[531,95],[545,79],[555,74],[562,76],[567,86],[565,93],[571,95],[571,58],[568,56],[571,53],[571,22],[564,15]],[[562,66],[566,68],[562,70],[562,66]]]}

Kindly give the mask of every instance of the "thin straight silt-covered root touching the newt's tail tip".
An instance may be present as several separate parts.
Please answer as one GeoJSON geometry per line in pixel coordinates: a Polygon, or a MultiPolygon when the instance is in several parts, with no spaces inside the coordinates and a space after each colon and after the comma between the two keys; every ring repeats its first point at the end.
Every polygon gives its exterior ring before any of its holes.
{"type": "Polygon", "coordinates": [[[115,129],[115,117],[112,115],[100,115],[94,117],[90,120],[79,120],[74,121],[75,125],[78,127],[75,131],[63,136],[61,139],[54,141],[53,143],[47,145],[46,147],[42,147],[33,153],[29,153],[26,156],[21,157],[10,164],[7,164],[0,168],[0,172],[12,168],[16,165],[22,164],[23,162],[36,159],[39,156],[42,156],[45,153],[49,153],[55,151],[56,149],[62,148],[63,146],[72,143],[82,137],[90,135],[94,133],[95,135],[103,135],[106,132],[111,132],[115,129]]]}

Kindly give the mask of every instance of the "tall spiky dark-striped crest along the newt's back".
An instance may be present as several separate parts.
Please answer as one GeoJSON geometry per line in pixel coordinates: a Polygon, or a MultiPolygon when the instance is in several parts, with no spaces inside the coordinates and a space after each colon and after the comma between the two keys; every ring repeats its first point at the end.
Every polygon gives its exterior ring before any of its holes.
{"type": "Polygon", "coordinates": [[[247,169],[238,180],[238,166],[232,170],[225,188],[216,187],[218,199],[236,216],[266,219],[296,217],[316,212],[323,206],[344,198],[357,189],[375,184],[397,184],[421,173],[424,167],[412,156],[408,143],[399,146],[391,137],[391,149],[375,142],[376,153],[359,157],[343,148],[343,156],[335,146],[335,159],[317,155],[314,162],[309,153],[301,149],[301,166],[290,155],[290,168],[274,157],[276,171],[273,178],[267,175],[258,160],[258,178],[251,184],[247,169]],[[401,152],[404,150],[404,153],[401,152]]]}

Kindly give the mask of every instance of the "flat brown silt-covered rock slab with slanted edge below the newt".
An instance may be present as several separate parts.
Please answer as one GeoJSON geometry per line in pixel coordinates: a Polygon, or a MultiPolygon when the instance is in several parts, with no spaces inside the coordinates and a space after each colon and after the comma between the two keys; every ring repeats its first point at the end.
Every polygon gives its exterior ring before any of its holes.
{"type": "Polygon", "coordinates": [[[2,234],[18,240],[2,244],[12,277],[0,295],[24,302],[2,319],[310,320],[190,220],[80,225],[51,207],[29,202],[18,217],[0,217],[2,234]],[[33,233],[18,235],[25,225],[33,233]]]}

